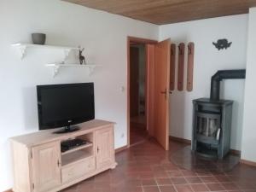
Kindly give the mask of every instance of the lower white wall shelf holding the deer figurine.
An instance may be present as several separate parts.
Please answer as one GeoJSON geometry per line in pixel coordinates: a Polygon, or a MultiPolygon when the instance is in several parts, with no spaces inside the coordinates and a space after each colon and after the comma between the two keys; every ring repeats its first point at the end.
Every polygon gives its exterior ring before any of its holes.
{"type": "Polygon", "coordinates": [[[100,67],[100,65],[94,65],[94,64],[83,64],[80,65],[79,63],[73,63],[73,64],[62,64],[62,63],[51,63],[46,64],[46,67],[51,67],[53,69],[53,77],[55,77],[61,67],[79,67],[79,68],[88,68],[89,69],[89,75],[94,72],[96,67],[100,67]]]}

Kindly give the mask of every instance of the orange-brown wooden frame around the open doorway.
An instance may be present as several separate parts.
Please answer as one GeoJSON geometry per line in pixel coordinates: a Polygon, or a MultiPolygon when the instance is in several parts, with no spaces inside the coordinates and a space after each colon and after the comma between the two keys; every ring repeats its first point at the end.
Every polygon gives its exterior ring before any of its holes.
{"type": "MultiPolygon", "coordinates": [[[[157,40],[152,40],[148,38],[136,38],[136,37],[127,37],[127,147],[130,148],[130,45],[131,43],[137,43],[137,44],[157,44],[157,40]]],[[[148,116],[148,50],[145,49],[145,61],[146,61],[146,66],[145,66],[145,111],[146,111],[146,118],[148,116]]],[[[146,119],[147,122],[147,130],[148,130],[148,119],[146,119]]]]}

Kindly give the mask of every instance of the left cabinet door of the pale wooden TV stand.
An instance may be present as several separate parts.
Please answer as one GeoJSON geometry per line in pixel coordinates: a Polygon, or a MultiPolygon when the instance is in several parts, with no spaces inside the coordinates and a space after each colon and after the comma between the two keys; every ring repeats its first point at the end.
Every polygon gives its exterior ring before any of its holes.
{"type": "Polygon", "coordinates": [[[33,188],[35,192],[54,189],[61,184],[61,149],[59,142],[32,148],[33,188]]]}

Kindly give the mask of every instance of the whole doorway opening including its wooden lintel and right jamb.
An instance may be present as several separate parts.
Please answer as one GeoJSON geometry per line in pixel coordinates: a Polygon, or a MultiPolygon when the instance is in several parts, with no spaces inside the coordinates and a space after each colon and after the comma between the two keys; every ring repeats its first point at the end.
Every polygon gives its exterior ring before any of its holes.
{"type": "Polygon", "coordinates": [[[154,135],[153,72],[154,44],[157,43],[127,37],[127,147],[154,135]]]}

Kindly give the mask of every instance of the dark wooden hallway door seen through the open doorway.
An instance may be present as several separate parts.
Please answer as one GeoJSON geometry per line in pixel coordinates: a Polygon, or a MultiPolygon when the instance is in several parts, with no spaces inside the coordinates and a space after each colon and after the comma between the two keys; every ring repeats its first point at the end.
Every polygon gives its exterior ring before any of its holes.
{"type": "Polygon", "coordinates": [[[130,47],[130,116],[139,114],[139,49],[130,47]]]}

